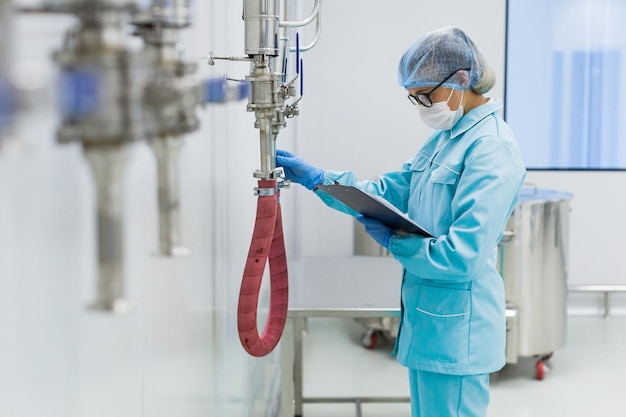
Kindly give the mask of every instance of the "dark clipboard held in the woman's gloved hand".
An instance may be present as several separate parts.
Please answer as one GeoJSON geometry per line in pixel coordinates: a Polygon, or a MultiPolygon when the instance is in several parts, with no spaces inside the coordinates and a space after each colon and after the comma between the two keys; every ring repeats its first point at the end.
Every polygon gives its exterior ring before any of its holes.
{"type": "Polygon", "coordinates": [[[316,187],[341,201],[352,210],[365,217],[378,220],[398,233],[413,233],[433,237],[413,220],[403,216],[399,211],[394,211],[394,209],[387,207],[375,197],[356,187],[341,184],[317,185],[316,187]]]}

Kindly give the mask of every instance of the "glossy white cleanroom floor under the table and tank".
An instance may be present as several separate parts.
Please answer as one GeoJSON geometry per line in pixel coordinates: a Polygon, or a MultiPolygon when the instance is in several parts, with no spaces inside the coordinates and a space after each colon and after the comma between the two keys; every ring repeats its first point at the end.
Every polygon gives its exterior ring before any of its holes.
{"type": "MultiPolygon", "coordinates": [[[[622,416],[626,409],[626,318],[569,317],[566,345],[535,379],[535,359],[520,358],[491,378],[488,417],[622,416]]],[[[392,343],[361,345],[351,319],[311,318],[304,339],[305,397],[408,396],[392,343]]],[[[408,403],[362,404],[363,417],[410,417],[408,403]]],[[[303,417],[354,417],[354,404],[305,403],[303,417]]]]}

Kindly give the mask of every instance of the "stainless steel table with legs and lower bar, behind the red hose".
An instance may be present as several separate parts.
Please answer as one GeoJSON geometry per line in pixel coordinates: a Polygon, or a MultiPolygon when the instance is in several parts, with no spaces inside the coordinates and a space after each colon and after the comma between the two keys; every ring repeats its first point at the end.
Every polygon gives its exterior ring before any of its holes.
{"type": "MultiPolygon", "coordinates": [[[[391,257],[348,256],[302,259],[292,267],[289,286],[289,312],[281,339],[281,400],[279,417],[302,417],[303,405],[311,403],[352,403],[361,416],[365,403],[408,403],[410,397],[306,397],[304,395],[304,335],[309,318],[380,318],[399,317],[400,280],[381,280],[381,276],[400,273],[391,257]],[[295,269],[294,269],[295,268],[295,269]],[[367,291],[354,293],[354,282],[346,274],[358,277],[367,291]],[[332,288],[332,291],[329,289],[332,288]],[[351,294],[350,301],[345,294],[351,294]]],[[[332,395],[332,391],[329,395],[332,395]]]]}

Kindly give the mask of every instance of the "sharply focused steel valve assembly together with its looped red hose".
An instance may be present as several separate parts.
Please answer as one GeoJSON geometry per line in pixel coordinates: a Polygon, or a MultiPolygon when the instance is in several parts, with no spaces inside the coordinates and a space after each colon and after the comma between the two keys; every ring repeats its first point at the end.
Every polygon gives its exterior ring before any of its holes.
{"type": "Polygon", "coordinates": [[[282,214],[279,204],[280,188],[287,182],[280,181],[276,169],[276,139],[286,119],[299,114],[300,99],[296,97],[296,81],[300,80],[302,96],[302,61],[299,36],[295,47],[289,46],[287,28],[306,26],[317,22],[316,35],[310,49],[319,38],[320,0],[315,1],[312,13],[303,21],[281,20],[290,13],[287,2],[279,0],[244,0],[245,54],[247,57],[213,57],[215,60],[249,61],[250,97],[247,110],[255,114],[255,127],[259,129],[261,167],[254,172],[258,179],[255,195],[258,196],[257,221],[252,235],[250,251],[243,273],[239,295],[238,330],[244,349],[253,356],[270,353],[280,340],[288,304],[287,259],[282,235],[282,214]],[[282,45],[281,45],[282,43],[282,45]],[[287,81],[287,53],[296,53],[296,77],[287,81]],[[270,265],[270,309],[261,336],[257,331],[257,308],[265,265],[270,265]]]}

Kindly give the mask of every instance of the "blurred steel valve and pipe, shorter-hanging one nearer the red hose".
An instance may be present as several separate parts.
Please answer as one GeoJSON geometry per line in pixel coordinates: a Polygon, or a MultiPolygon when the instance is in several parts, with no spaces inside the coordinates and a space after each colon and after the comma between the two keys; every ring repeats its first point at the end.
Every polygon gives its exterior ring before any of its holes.
{"type": "Polygon", "coordinates": [[[133,17],[136,34],[151,55],[153,73],[142,97],[144,115],[154,127],[146,132],[158,175],[159,253],[183,256],[178,161],[183,135],[199,127],[202,103],[197,65],[182,58],[180,32],[191,24],[191,1],[154,0],[133,17]]]}

